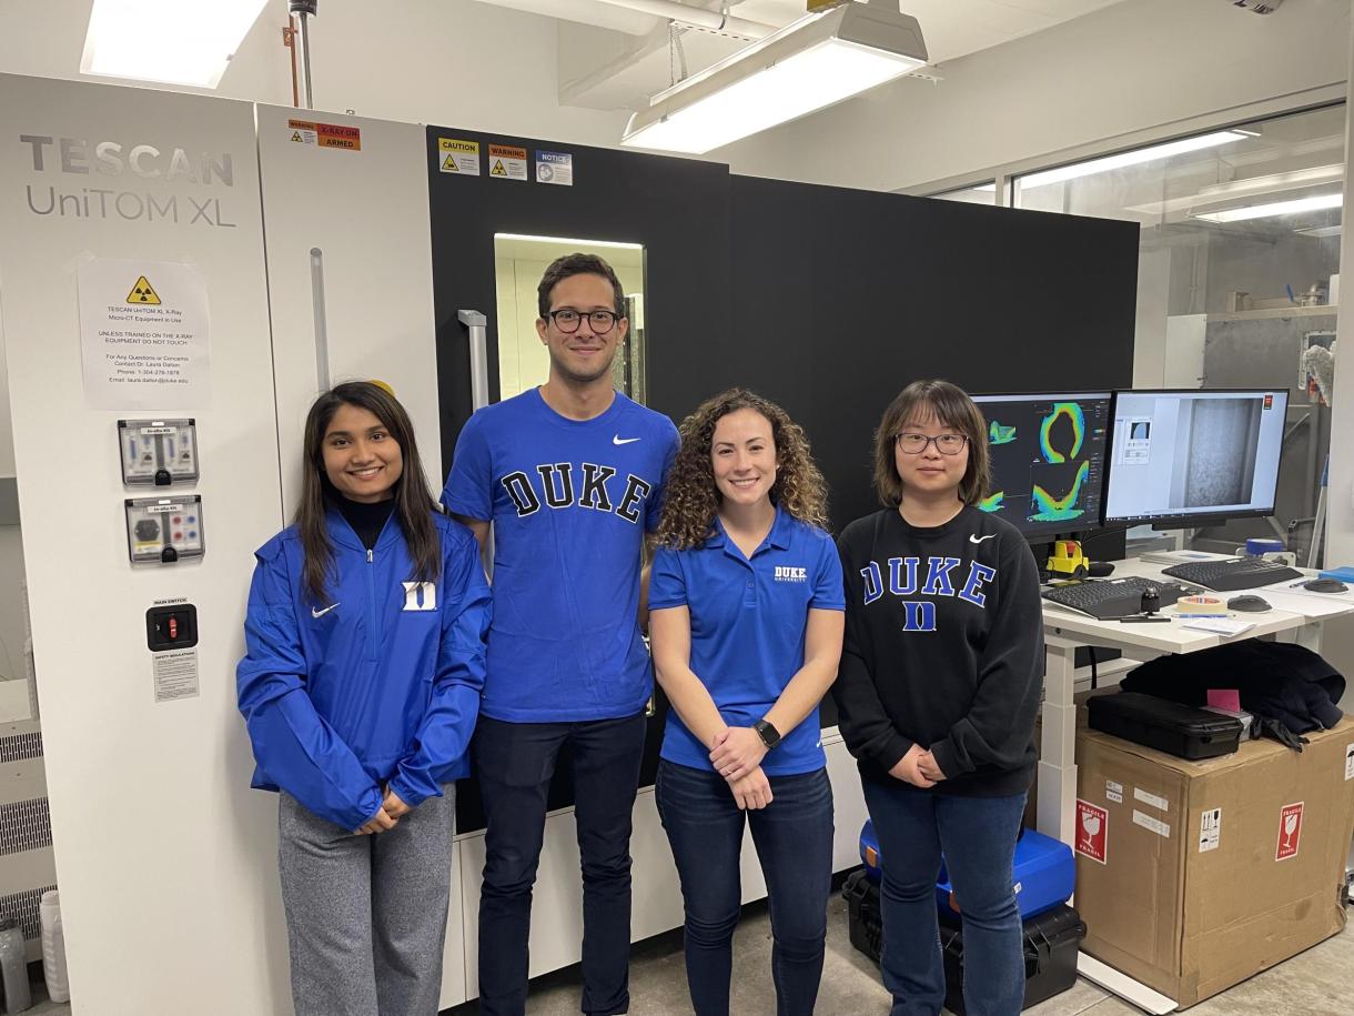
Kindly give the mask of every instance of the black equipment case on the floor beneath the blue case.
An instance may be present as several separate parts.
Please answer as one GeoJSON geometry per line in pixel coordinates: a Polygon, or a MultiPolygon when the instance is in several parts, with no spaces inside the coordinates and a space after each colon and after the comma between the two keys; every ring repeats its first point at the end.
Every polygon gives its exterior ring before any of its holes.
{"type": "MultiPolygon", "coordinates": [[[[849,912],[850,944],[879,962],[883,924],[879,916],[879,883],[856,871],[842,886],[849,912]]],[[[1076,982],[1076,952],[1086,937],[1086,924],[1071,906],[1059,905],[1024,921],[1025,1002],[1028,1009],[1066,992],[1076,982]]],[[[964,1016],[964,929],[963,923],[941,924],[940,940],[945,956],[945,1008],[964,1016]]]]}

